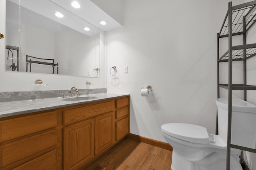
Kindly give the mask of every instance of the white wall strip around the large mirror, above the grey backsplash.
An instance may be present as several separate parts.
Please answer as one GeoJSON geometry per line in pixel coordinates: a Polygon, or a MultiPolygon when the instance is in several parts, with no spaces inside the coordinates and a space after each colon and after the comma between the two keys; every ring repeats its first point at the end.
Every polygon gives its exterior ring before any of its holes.
{"type": "MultiPolygon", "coordinates": [[[[0,0],[0,33],[6,35],[5,31],[5,0],[0,0]]],[[[31,90],[66,90],[72,86],[78,89],[105,88],[106,87],[106,63],[105,63],[105,33],[100,33],[100,78],[89,78],[79,76],[64,76],[56,74],[38,74],[26,72],[5,71],[5,41],[0,39],[0,91],[31,91],[31,90]],[[35,80],[41,79],[48,86],[31,86],[35,80]],[[91,86],[86,81],[92,82],[91,86]]]]}

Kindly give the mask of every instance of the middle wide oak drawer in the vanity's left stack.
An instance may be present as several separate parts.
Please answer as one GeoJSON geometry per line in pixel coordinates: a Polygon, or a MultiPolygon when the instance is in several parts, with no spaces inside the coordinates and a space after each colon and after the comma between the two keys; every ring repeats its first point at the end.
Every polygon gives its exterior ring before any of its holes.
{"type": "MultiPolygon", "coordinates": [[[[52,130],[39,135],[34,135],[1,146],[1,166],[5,166],[22,160],[26,157],[33,157],[46,149],[54,148],[57,145],[57,131],[52,130]]],[[[36,158],[36,156],[35,156],[36,158]]]]}

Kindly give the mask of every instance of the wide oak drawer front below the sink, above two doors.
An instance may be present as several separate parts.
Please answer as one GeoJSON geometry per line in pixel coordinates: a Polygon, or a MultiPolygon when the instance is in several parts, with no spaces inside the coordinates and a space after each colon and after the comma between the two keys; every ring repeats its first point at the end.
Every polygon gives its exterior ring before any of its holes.
{"type": "Polygon", "coordinates": [[[64,125],[114,110],[114,100],[63,111],[64,125]]]}

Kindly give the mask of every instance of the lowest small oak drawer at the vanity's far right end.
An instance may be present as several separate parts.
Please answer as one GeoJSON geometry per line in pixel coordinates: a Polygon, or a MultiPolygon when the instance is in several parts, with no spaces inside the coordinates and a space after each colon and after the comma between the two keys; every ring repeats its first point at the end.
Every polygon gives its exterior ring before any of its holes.
{"type": "Polygon", "coordinates": [[[128,117],[116,122],[116,141],[122,139],[129,133],[129,119],[128,117]]]}

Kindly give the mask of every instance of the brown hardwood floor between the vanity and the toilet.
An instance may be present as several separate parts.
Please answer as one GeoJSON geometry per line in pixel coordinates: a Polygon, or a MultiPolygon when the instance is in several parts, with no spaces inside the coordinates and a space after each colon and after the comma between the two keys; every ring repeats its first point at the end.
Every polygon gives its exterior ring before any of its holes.
{"type": "Polygon", "coordinates": [[[172,151],[125,138],[84,170],[171,170],[172,151]]]}

